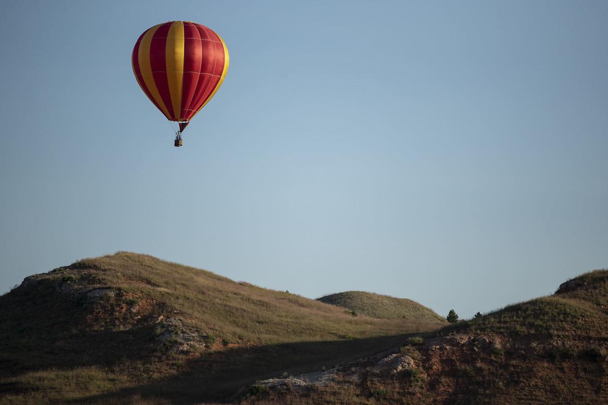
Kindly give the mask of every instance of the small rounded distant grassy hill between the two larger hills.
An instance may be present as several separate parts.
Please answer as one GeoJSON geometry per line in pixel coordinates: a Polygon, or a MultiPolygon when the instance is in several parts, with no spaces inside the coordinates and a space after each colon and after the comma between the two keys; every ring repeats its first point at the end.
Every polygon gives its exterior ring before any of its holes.
{"type": "Polygon", "coordinates": [[[380,319],[425,319],[427,321],[445,322],[445,319],[433,310],[406,298],[395,298],[387,295],[367,293],[365,291],[346,291],[317,298],[325,304],[348,308],[357,314],[380,319]]]}

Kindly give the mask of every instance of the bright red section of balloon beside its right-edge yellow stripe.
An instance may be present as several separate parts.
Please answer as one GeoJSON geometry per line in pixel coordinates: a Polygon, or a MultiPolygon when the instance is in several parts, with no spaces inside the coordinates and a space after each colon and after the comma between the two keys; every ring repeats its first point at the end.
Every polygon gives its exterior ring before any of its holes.
{"type": "Polygon", "coordinates": [[[224,70],[224,46],[221,44],[219,37],[207,27],[196,24],[196,28],[201,35],[202,44],[201,75],[196,86],[195,95],[192,98],[192,103],[190,104],[192,111],[188,111],[188,120],[192,118],[192,115],[196,114],[196,111],[201,108],[202,104],[213,93],[213,90],[218,85],[219,76],[224,70]]]}

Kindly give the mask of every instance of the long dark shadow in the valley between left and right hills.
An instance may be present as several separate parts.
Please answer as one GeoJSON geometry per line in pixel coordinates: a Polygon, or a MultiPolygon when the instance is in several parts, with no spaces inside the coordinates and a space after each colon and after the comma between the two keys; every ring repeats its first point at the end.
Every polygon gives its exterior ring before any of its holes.
{"type": "Polygon", "coordinates": [[[117,392],[78,398],[73,403],[128,404],[134,396],[179,404],[231,401],[246,392],[257,380],[347,364],[365,356],[396,349],[408,337],[415,335],[420,336],[420,333],[266,345],[207,353],[188,362],[186,369],[178,375],[117,392]]]}

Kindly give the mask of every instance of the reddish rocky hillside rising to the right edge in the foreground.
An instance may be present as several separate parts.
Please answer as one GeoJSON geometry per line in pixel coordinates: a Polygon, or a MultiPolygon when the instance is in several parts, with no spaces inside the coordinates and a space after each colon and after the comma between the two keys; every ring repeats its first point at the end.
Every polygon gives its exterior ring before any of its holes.
{"type": "Polygon", "coordinates": [[[259,381],[244,404],[606,404],[608,271],[316,373],[259,381]]]}

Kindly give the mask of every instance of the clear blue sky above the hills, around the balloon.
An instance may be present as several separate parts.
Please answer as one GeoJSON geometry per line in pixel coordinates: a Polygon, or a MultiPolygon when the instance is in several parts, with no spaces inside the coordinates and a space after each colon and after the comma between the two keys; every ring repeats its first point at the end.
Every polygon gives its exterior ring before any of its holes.
{"type": "Polygon", "coordinates": [[[461,318],[608,267],[608,2],[23,1],[0,15],[0,293],[126,250],[461,318]],[[174,148],[131,69],[194,21],[174,148]]]}

